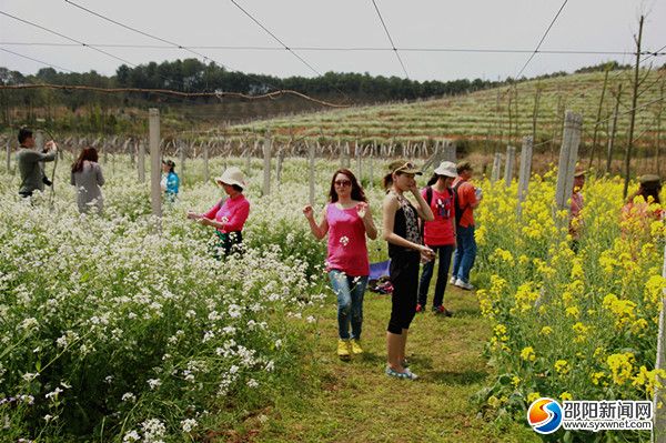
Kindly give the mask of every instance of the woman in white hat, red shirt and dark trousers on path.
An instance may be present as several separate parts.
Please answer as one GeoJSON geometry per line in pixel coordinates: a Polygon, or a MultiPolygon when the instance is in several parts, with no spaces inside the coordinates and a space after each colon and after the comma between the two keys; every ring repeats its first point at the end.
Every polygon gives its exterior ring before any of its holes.
{"type": "MultiPolygon", "coordinates": [[[[442,304],[446,279],[451,268],[451,256],[455,250],[455,198],[451,189],[453,180],[457,177],[455,163],[444,161],[435,169],[435,173],[421,191],[423,199],[430,205],[435,220],[423,222],[423,243],[440,254],[435,296],[433,298],[433,312],[451,316],[452,312],[442,304]]],[[[418,304],[416,312],[425,312],[427,291],[433,276],[435,260],[423,263],[423,272],[418,283],[418,304]]]]}

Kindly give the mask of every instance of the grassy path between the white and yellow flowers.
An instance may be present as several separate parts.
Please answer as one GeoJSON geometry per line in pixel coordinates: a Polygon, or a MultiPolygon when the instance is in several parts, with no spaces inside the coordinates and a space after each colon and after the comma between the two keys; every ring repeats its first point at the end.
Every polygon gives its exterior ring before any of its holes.
{"type": "Polygon", "coordinates": [[[335,355],[336,308],[333,299],[330,302],[326,312],[320,313],[321,336],[310,362],[314,370],[306,371],[313,374],[305,381],[311,387],[302,396],[275,399],[274,409],[266,413],[269,420],[249,441],[539,441],[522,424],[497,426],[477,417],[470,404],[470,396],[492,372],[482,356],[491,329],[473,293],[450,286],[445,304],[455,312],[453,318],[427,312],[414,319],[407,358],[421,377],[416,382],[384,375],[387,296],[366,293],[365,354],[351,362],[335,355]]]}

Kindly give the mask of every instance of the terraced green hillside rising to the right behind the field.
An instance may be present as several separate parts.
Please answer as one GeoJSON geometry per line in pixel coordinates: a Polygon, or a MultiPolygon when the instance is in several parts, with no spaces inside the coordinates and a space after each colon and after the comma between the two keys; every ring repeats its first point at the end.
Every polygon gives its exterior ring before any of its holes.
{"type": "MultiPolygon", "coordinates": [[[[659,140],[664,139],[660,120],[666,71],[642,74],[647,77],[638,99],[640,109],[637,112],[635,134],[639,135],[639,145],[648,147],[656,144],[657,137],[659,140]]],[[[612,71],[608,74],[598,124],[598,144],[606,144],[615,97],[620,84],[623,91],[616,138],[618,142],[626,138],[628,110],[632,108],[629,75],[630,71],[612,71]]],[[[591,142],[603,85],[604,72],[578,73],[531,80],[512,88],[488,89],[451,98],[263,120],[233,125],[225,132],[228,135],[240,137],[249,132],[263,133],[270,128],[275,137],[285,141],[323,137],[361,143],[405,143],[450,138],[470,144],[506,143],[509,140],[517,142],[523,135],[532,134],[536,108],[535,143],[561,137],[565,110],[583,114],[583,138],[584,141],[591,142]]]]}

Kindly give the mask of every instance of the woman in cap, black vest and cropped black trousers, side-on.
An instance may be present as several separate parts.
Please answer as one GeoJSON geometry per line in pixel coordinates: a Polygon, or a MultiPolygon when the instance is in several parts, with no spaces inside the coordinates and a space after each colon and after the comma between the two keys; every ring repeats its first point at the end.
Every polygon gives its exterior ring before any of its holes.
{"type": "Polygon", "coordinates": [[[414,175],[421,174],[421,171],[404,160],[393,162],[389,168],[391,172],[383,180],[386,197],[382,205],[382,236],[389,243],[389,274],[393,284],[391,320],[386,332],[386,375],[416,380],[416,374],[406,368],[405,362],[407,332],[416,314],[418,263],[421,259],[435,258],[432,249],[421,244],[418,218],[433,221],[434,217],[414,180],[414,175]],[[417,208],[404,197],[407,191],[416,199],[417,208]]]}

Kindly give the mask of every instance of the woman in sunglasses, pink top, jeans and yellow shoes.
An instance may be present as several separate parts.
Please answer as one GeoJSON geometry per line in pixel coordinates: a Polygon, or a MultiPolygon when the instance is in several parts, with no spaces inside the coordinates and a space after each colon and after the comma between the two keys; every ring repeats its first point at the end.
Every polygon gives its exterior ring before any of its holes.
{"type": "Polygon", "coordinates": [[[303,214],[316,239],[329,234],[326,271],[337,296],[337,356],[349,360],[352,354],[363,353],[363,294],[370,275],[365,236],[377,238],[372,212],[356,177],[349,169],[339,169],[331,179],[322,221],[316,223],[310,204],[303,208],[303,214]]]}

